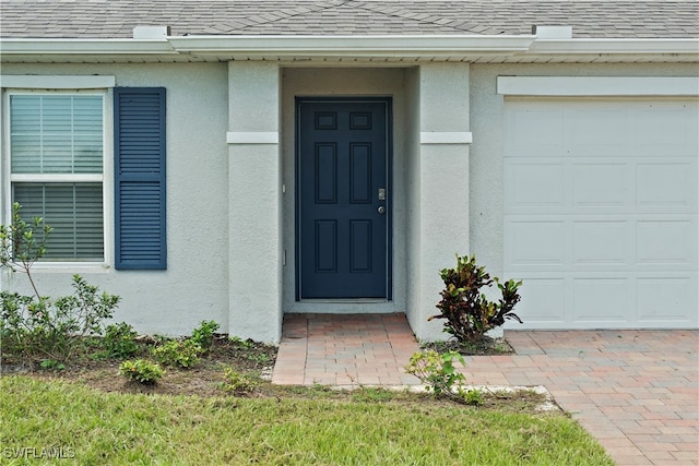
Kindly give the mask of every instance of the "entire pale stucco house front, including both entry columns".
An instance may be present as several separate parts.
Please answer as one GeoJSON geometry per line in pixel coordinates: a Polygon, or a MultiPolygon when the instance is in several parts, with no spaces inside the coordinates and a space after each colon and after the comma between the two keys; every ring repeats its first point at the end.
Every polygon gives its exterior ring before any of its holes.
{"type": "MultiPolygon", "coordinates": [[[[120,295],[115,319],[139,332],[187,334],[205,319],[232,335],[279,342],[285,312],[405,312],[418,338],[442,338],[441,322],[427,318],[439,300],[438,273],[454,254],[475,253],[502,275],[506,97],[498,76],[696,77],[699,65],[281,59],[3,63],[2,74],[104,75],[117,86],[167,88],[167,271],[115,271],[109,261],[75,270],[42,265],[35,277],[44,294],[67,294],[79,272],[120,295]],[[295,300],[294,99],[329,95],[392,98],[390,301],[295,300]]],[[[22,87],[17,77],[8,82],[22,87]]],[[[3,106],[3,124],[5,112],[3,106]]],[[[25,288],[22,276],[0,280],[2,289],[25,288]]]]}

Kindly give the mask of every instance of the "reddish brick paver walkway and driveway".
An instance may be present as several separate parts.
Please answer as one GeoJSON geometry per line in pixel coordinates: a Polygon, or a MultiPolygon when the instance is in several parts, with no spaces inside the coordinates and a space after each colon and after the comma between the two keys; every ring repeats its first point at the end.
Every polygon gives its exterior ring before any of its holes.
{"type": "MultiPolygon", "coordinates": [[[[623,465],[699,465],[699,333],[506,332],[516,355],[466,358],[475,385],[544,385],[623,465]]],[[[406,385],[403,314],[287,314],[273,382],[406,385]]]]}

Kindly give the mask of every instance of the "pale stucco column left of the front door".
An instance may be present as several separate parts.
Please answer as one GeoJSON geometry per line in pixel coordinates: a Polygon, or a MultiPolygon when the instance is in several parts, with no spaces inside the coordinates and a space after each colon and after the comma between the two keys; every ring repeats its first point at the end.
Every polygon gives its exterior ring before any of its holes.
{"type": "Polygon", "coordinates": [[[229,62],[228,333],[268,343],[283,318],[280,128],[279,65],[229,62]]]}

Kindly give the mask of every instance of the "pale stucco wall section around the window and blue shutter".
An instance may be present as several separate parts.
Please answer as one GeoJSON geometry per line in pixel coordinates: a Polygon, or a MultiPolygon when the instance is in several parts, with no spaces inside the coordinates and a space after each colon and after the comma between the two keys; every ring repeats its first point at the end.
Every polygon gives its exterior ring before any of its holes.
{"type": "MultiPolygon", "coordinates": [[[[228,325],[227,67],[3,64],[3,74],[104,74],[118,86],[167,88],[167,271],[76,268],[122,301],[117,321],[139,332],[188,334],[203,319],[228,325]]],[[[111,181],[108,181],[111,183],[111,181]]],[[[46,295],[69,294],[73,271],[34,273],[46,295]]],[[[2,274],[2,288],[8,284],[2,274]]],[[[26,279],[17,276],[13,286],[26,279]]]]}

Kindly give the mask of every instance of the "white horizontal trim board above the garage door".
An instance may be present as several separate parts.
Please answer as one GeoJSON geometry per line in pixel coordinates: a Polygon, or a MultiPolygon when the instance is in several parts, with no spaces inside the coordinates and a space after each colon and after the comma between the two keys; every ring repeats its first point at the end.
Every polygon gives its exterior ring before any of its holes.
{"type": "Polygon", "coordinates": [[[497,92],[518,96],[699,96],[699,77],[498,76],[497,92]]]}

